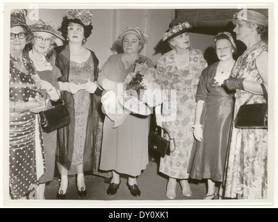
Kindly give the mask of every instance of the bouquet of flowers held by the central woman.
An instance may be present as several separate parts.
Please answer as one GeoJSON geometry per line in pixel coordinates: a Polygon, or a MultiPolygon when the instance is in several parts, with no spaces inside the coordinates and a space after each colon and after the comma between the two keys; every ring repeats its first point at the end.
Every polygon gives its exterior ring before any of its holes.
{"type": "Polygon", "coordinates": [[[126,100],[136,97],[140,103],[149,107],[161,105],[163,95],[161,86],[156,83],[157,71],[147,67],[147,59],[139,58],[135,62],[136,68],[124,80],[126,100]]]}

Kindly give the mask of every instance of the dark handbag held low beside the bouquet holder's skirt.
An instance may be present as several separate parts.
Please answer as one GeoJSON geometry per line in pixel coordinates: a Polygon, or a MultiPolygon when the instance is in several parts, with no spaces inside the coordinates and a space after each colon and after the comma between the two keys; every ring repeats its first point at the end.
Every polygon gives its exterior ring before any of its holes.
{"type": "Polygon", "coordinates": [[[162,132],[166,136],[165,130],[159,126],[149,132],[149,148],[152,148],[161,157],[165,157],[165,155],[170,155],[170,141],[161,137],[162,132]]]}

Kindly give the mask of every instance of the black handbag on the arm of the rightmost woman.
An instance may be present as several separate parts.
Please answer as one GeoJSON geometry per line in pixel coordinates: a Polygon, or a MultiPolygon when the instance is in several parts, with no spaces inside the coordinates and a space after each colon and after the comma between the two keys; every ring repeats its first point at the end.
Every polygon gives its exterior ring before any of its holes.
{"type": "Polygon", "coordinates": [[[268,128],[268,92],[265,85],[263,88],[263,96],[266,103],[247,104],[254,94],[250,95],[243,105],[240,106],[238,114],[236,114],[235,127],[241,129],[267,129],[268,128]]]}

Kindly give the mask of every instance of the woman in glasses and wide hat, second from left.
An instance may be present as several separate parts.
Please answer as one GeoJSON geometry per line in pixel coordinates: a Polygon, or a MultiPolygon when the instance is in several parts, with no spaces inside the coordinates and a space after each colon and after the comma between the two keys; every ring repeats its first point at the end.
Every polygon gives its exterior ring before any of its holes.
{"type": "MultiPolygon", "coordinates": [[[[33,40],[32,49],[26,53],[31,58],[40,79],[46,85],[45,90],[40,90],[45,99],[47,99],[47,109],[51,108],[51,101],[59,99],[58,78],[60,78],[60,69],[47,59],[47,53],[54,46],[54,40],[59,38],[65,40],[61,33],[51,24],[46,24],[41,20],[30,26],[33,40]]],[[[44,151],[46,159],[46,173],[40,178],[39,182],[39,200],[44,200],[44,190],[46,182],[53,180],[55,169],[55,153],[57,146],[57,131],[51,133],[42,132],[44,140],[44,151]]]]}

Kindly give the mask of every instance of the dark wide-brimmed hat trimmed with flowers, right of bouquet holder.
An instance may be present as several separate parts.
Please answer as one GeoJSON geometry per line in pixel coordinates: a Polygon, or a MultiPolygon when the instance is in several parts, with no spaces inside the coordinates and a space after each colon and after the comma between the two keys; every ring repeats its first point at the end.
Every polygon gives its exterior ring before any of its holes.
{"type": "Polygon", "coordinates": [[[163,35],[163,41],[169,41],[173,37],[193,31],[193,26],[183,19],[173,19],[169,24],[169,28],[163,35]]]}

